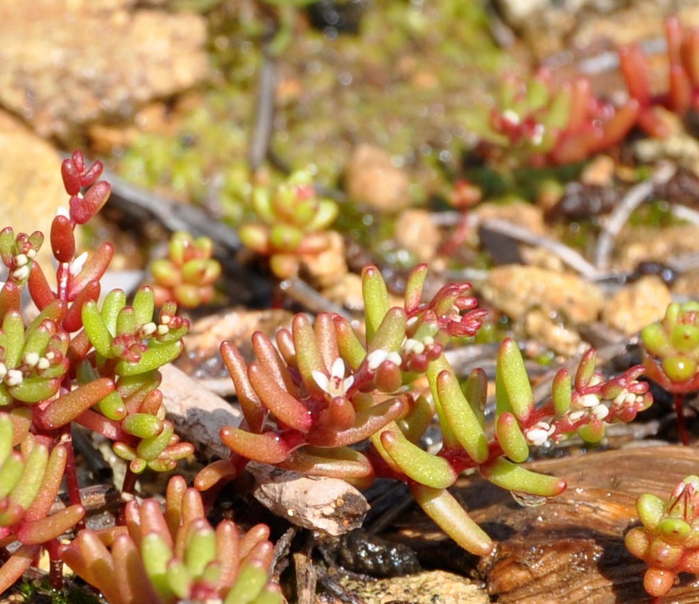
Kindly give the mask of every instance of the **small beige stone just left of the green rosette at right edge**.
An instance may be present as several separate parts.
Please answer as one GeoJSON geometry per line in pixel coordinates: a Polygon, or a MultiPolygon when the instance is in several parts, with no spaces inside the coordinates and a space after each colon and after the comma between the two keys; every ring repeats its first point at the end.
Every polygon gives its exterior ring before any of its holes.
{"type": "Polygon", "coordinates": [[[662,319],[671,301],[668,286],[660,278],[647,275],[611,296],[602,309],[602,319],[630,336],[662,319]]]}

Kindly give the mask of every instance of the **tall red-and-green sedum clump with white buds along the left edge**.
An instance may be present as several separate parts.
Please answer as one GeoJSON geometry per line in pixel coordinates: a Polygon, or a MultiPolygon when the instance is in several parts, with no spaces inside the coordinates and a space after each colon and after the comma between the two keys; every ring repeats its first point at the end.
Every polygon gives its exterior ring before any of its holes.
{"type": "Polygon", "coordinates": [[[180,354],[189,324],[172,301],[154,320],[150,287],[140,289],[131,304],[118,289],[98,302],[113,247],[103,243],[92,257],[76,256],[74,231],[99,211],[110,187],[97,180],[101,163],[87,166],[81,152],[66,159],[61,171],[70,199],[50,229],[55,287],[36,261],[43,234],[0,231],[0,259],[8,269],[0,288],[0,591],[41,548],[52,561],[52,583],[62,582],[57,538],[84,514],[74,422],[106,437],[129,460],[124,492],[134,490],[145,468],[171,470],[194,451],[174,434],[158,389],[158,369],[180,354]],[[23,289],[38,309],[31,322],[20,312],[23,289]],[[50,515],[63,480],[70,505],[50,515]]]}

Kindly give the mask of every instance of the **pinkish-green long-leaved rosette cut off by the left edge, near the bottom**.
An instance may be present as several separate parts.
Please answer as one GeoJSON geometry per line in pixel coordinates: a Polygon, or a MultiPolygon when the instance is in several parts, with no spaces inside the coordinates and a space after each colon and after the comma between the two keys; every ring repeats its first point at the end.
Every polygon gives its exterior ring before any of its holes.
{"type": "Polygon", "coordinates": [[[85,515],[82,505],[50,515],[68,451],[29,433],[27,411],[0,413],[0,547],[21,544],[0,567],[0,593],[29,568],[43,545],[57,547],[57,538],[85,515]]]}

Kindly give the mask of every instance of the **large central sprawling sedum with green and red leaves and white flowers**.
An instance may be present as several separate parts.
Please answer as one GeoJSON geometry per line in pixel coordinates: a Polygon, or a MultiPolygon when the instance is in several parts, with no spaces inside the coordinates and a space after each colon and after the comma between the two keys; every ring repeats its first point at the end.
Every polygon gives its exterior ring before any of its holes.
{"type": "Polygon", "coordinates": [[[208,489],[230,480],[250,459],[344,478],[357,487],[367,487],[377,476],[403,480],[426,514],[461,547],[487,554],[493,542],[449,494],[459,473],[477,468],[520,501],[528,496],[541,503],[560,494],[565,482],[522,467],[530,447],[575,433],[600,440],[607,424],[628,422],[651,404],[648,384],[637,381],[641,366],[605,380],[595,371],[591,351],[575,380],[559,371],[552,398],[537,408],[519,349],[505,340],[489,437],[485,373],[475,370],[460,384],[444,354],[449,337],[476,333],[485,311],[468,296],[469,284],[446,285],[423,303],[426,274],[426,265],[415,268],[403,306],[391,307],[380,272],[374,266],[364,269],[363,338],[347,319],[321,313],[315,324],[296,315],[291,330],[278,331],[276,343],[255,333],[257,360],[250,364],[224,342],[222,355],[245,422],[222,429],[231,457],[204,468],[195,486],[208,489]],[[442,447],[431,454],[420,439],[435,416],[442,447]],[[365,440],[368,447],[356,446],[365,440]]]}

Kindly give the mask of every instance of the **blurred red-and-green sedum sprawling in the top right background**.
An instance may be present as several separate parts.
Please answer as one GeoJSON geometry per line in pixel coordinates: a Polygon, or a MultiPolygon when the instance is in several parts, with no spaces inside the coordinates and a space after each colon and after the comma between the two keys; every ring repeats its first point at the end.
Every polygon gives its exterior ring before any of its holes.
{"type": "Polygon", "coordinates": [[[639,44],[619,47],[628,98],[620,105],[594,96],[588,78],[554,85],[542,69],[531,78],[511,77],[482,127],[481,150],[507,168],[569,164],[618,145],[633,127],[667,136],[661,108],[684,116],[699,106],[699,28],[665,20],[668,87],[655,94],[651,69],[639,44]]]}

